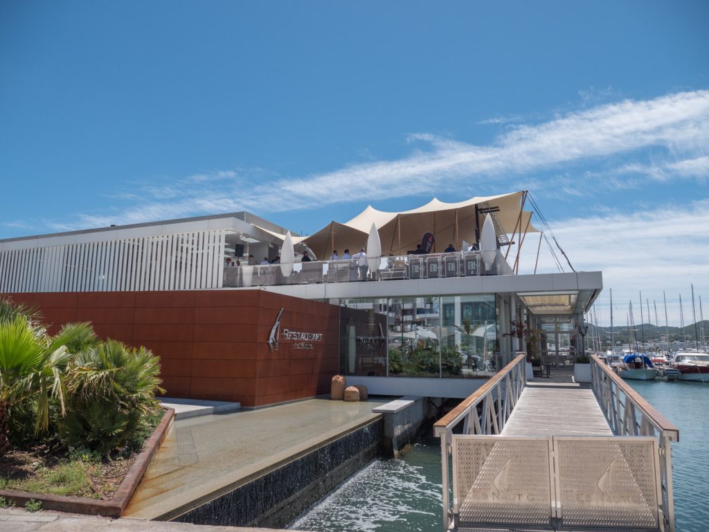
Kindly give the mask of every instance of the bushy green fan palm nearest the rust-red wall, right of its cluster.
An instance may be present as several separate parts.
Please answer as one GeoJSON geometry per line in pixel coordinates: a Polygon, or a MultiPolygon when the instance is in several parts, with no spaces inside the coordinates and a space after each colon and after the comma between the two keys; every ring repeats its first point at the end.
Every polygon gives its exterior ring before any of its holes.
{"type": "Polygon", "coordinates": [[[66,414],[57,418],[62,443],[103,456],[140,445],[162,392],[158,360],[116,340],[77,353],[65,376],[66,414]]]}

